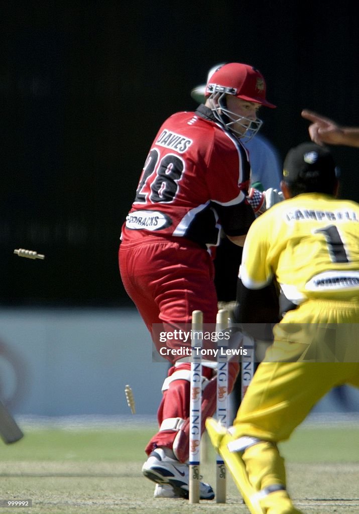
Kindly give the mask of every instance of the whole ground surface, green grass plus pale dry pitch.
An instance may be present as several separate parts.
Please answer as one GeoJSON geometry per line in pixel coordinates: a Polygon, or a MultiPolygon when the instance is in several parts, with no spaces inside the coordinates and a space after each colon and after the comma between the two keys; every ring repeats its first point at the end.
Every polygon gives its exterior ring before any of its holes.
{"type": "MultiPolygon", "coordinates": [[[[248,514],[231,478],[227,503],[154,500],[154,484],[141,475],[143,452],[155,427],[34,429],[14,445],[0,446],[0,499],[31,499],[19,514],[248,514]]],[[[281,445],[288,484],[306,514],[358,514],[359,431],[353,426],[297,429],[281,445]]],[[[201,466],[214,485],[214,452],[201,466]]]]}

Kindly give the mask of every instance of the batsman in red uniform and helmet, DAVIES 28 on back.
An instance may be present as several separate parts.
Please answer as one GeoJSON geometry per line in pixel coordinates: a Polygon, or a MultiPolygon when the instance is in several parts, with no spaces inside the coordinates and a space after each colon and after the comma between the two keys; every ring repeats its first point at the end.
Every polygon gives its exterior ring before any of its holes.
{"type": "MultiPolygon", "coordinates": [[[[249,155],[241,144],[262,124],[258,109],[275,107],[266,100],[263,76],[246,64],[225,64],[209,78],[205,97],[195,112],[176,113],[160,127],[122,227],[122,282],[158,352],[190,347],[190,341],[161,342],[154,326],[164,332],[190,327],[197,309],[205,324],[216,323],[211,249],[221,229],[242,246],[265,204],[263,193],[248,191],[249,155]]],[[[172,367],[157,413],[159,430],[146,447],[142,472],[156,482],[155,497],[188,498],[190,362],[171,352],[166,358],[172,367]]],[[[229,368],[230,391],[239,365],[229,368]]],[[[216,370],[211,362],[202,369],[204,429],[216,408],[216,370]]],[[[214,498],[204,482],[200,495],[214,498]]]]}

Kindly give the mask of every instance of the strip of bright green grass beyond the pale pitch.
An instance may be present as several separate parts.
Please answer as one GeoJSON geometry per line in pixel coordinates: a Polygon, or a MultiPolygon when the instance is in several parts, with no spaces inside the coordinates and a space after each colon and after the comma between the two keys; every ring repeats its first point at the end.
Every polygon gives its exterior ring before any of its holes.
{"type": "MultiPolygon", "coordinates": [[[[141,462],[155,428],[25,430],[25,437],[0,447],[0,460],[141,462]]],[[[298,428],[280,444],[288,462],[358,462],[359,428],[298,428]]],[[[211,448],[209,450],[211,452],[211,448]]]]}

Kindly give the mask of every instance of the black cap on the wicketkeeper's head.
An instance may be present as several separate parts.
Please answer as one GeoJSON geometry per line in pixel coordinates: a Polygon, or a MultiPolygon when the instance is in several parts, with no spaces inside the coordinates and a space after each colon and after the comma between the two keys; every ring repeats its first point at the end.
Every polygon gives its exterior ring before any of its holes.
{"type": "Polygon", "coordinates": [[[335,183],[336,168],[332,154],[325,146],[313,142],[292,148],[284,159],[283,179],[290,183],[335,183]]]}

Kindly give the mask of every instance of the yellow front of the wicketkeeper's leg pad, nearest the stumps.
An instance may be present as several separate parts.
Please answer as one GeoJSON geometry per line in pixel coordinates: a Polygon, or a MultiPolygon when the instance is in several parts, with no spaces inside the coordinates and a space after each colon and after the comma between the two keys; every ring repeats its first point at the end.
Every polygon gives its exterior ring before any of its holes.
{"type": "Polygon", "coordinates": [[[259,499],[256,498],[256,491],[248,480],[245,464],[239,452],[230,452],[227,444],[232,436],[212,418],[207,418],[206,428],[211,439],[212,445],[222,455],[223,460],[238,487],[243,500],[245,501],[251,514],[265,514],[262,510],[259,499]]]}

